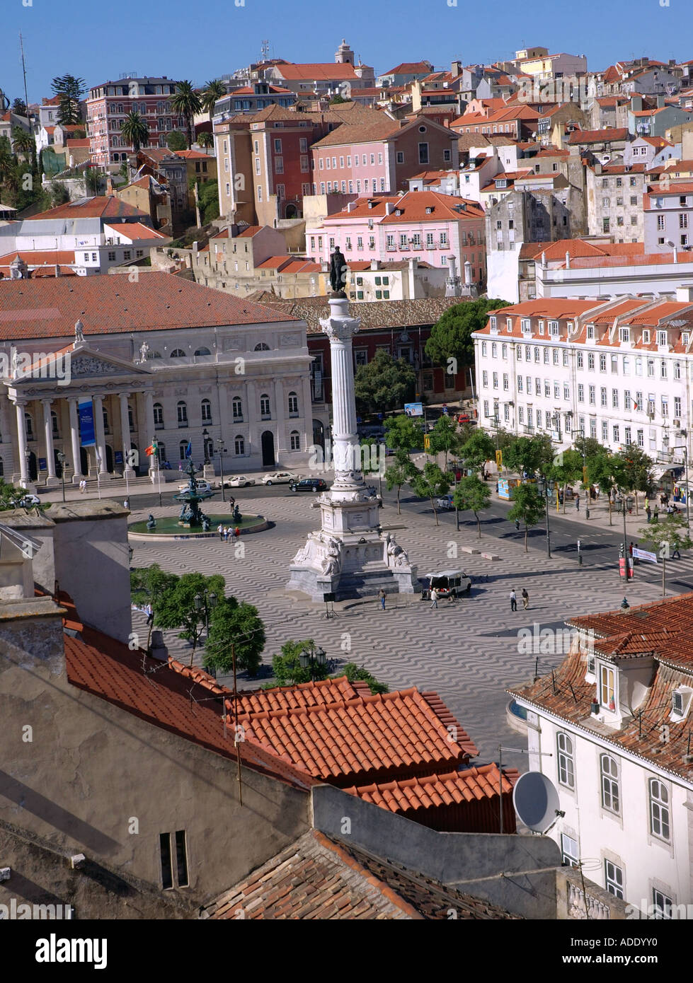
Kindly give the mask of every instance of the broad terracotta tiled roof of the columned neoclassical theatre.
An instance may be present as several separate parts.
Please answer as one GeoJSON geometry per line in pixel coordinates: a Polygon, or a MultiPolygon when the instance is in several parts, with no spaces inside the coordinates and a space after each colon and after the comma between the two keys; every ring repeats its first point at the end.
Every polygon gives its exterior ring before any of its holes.
{"type": "Polygon", "coordinates": [[[80,319],[87,336],[292,318],[170,273],[147,273],[137,282],[117,274],[0,281],[0,333],[7,341],[73,337],[80,319]]]}

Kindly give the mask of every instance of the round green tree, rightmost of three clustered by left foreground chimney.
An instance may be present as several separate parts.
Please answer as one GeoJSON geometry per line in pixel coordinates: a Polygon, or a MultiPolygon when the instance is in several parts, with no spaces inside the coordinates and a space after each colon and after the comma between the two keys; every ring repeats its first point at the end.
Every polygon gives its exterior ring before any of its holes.
{"type": "Polygon", "coordinates": [[[265,626],[258,616],[258,609],[244,601],[239,603],[235,598],[222,598],[210,617],[205,665],[230,672],[233,669],[232,646],[235,647],[236,670],[257,675],[265,648],[265,626]]]}

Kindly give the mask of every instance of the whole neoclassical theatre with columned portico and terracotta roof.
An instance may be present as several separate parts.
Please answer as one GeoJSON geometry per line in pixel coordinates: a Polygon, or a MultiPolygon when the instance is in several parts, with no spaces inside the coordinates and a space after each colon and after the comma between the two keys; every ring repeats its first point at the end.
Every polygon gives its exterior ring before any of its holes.
{"type": "Polygon", "coordinates": [[[310,361],[305,321],[172,274],[0,281],[0,475],[55,485],[59,452],[75,483],[146,474],[155,439],[176,470],[188,443],[218,470],[220,442],[229,472],[304,466],[310,361]]]}

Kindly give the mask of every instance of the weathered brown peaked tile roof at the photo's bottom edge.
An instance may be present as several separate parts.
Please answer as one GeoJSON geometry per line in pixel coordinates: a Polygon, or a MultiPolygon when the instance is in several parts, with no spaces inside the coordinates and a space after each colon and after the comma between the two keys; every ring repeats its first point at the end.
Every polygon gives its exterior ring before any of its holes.
{"type": "Polygon", "coordinates": [[[513,918],[400,864],[310,831],[226,891],[203,918],[408,920],[513,918]]]}

